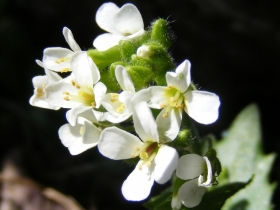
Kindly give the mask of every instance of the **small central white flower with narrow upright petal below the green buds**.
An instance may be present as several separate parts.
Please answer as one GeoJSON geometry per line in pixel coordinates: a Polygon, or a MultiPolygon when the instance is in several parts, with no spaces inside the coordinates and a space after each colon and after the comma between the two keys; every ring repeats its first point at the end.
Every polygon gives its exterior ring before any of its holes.
{"type": "Polygon", "coordinates": [[[119,123],[132,115],[134,104],[148,100],[149,94],[146,89],[135,94],[131,78],[123,66],[118,65],[116,67],[115,75],[123,91],[120,94],[106,94],[101,103],[108,111],[107,120],[112,123],[119,123]]]}

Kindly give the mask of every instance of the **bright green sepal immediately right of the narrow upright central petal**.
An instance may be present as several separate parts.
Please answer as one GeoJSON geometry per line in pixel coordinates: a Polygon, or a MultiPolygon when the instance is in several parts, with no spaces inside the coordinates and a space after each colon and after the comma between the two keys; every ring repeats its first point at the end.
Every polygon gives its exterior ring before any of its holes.
{"type": "Polygon", "coordinates": [[[126,70],[137,90],[146,88],[153,75],[150,68],[143,66],[126,66],[126,70]]]}

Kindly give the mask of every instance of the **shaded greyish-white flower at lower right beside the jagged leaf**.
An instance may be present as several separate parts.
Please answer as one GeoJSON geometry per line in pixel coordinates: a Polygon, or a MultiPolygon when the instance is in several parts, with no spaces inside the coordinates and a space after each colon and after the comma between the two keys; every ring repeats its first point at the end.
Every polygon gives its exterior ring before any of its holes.
{"type": "Polygon", "coordinates": [[[173,209],[178,208],[179,201],[188,208],[197,206],[206,187],[212,186],[212,167],[207,157],[196,154],[182,156],[178,161],[176,175],[180,179],[190,181],[185,182],[179,188],[178,194],[173,196],[171,202],[173,209]]]}

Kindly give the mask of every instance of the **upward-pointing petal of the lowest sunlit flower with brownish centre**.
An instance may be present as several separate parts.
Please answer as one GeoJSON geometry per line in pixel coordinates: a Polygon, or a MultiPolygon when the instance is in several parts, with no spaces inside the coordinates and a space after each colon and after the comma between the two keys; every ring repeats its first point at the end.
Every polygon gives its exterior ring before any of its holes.
{"type": "Polygon", "coordinates": [[[159,142],[157,124],[146,102],[140,102],[135,106],[133,122],[136,133],[144,142],[159,142]]]}

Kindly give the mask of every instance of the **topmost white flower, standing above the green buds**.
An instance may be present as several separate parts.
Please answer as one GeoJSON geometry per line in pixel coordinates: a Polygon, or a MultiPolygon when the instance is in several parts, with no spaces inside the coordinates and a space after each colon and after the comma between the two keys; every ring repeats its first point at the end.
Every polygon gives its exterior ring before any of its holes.
{"type": "Polygon", "coordinates": [[[112,2],[104,3],[98,9],[95,19],[100,28],[109,32],[99,35],[93,41],[93,46],[99,51],[117,45],[121,39],[131,39],[144,33],[142,16],[133,4],[119,8],[112,2]]]}

